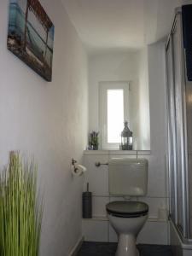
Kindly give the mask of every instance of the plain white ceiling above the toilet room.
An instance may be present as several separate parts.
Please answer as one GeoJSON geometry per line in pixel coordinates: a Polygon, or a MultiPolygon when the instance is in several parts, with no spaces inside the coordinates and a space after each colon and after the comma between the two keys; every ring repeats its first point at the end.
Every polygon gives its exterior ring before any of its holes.
{"type": "Polygon", "coordinates": [[[140,49],[166,36],[182,0],[61,0],[90,51],[140,49]]]}

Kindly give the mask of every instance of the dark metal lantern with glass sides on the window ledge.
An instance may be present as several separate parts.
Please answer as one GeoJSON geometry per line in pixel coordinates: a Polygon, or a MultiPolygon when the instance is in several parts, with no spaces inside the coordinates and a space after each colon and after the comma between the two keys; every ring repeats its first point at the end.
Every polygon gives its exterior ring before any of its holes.
{"type": "Polygon", "coordinates": [[[132,131],[130,131],[127,121],[125,121],[124,125],[124,130],[121,132],[120,149],[132,150],[132,131]]]}

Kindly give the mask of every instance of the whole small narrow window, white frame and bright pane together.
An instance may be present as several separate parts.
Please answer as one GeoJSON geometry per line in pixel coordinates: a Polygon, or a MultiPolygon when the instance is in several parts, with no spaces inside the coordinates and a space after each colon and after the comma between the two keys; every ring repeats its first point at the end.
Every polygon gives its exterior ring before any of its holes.
{"type": "Polygon", "coordinates": [[[120,132],[129,119],[129,83],[101,82],[99,90],[102,148],[119,149],[120,132]]]}

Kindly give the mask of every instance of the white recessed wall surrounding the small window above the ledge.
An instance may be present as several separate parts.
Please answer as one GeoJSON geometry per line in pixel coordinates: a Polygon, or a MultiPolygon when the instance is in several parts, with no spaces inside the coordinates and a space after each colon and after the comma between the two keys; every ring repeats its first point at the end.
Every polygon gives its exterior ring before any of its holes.
{"type": "MultiPolygon", "coordinates": [[[[135,148],[149,149],[149,110],[146,50],[100,53],[89,58],[89,130],[99,131],[98,84],[101,81],[130,81],[130,119],[135,148]],[[143,79],[144,78],[144,79],[143,79]],[[145,90],[147,88],[147,90],[145,90]],[[141,100],[141,102],[140,102],[141,100]],[[143,114],[143,112],[145,112],[143,114]],[[144,126],[140,127],[140,119],[144,126]],[[144,137],[141,130],[144,130],[144,137]],[[136,139],[137,138],[137,139],[136,139]]],[[[129,121],[129,120],[128,120],[129,121]]]]}

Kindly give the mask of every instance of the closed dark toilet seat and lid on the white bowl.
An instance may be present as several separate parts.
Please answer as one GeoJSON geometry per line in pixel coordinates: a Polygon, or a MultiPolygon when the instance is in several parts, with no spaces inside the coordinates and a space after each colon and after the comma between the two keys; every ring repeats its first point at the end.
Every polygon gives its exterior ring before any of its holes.
{"type": "Polygon", "coordinates": [[[148,214],[148,205],[141,201],[113,201],[106,205],[108,214],[119,218],[137,218],[148,214]]]}

